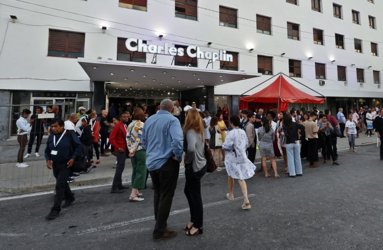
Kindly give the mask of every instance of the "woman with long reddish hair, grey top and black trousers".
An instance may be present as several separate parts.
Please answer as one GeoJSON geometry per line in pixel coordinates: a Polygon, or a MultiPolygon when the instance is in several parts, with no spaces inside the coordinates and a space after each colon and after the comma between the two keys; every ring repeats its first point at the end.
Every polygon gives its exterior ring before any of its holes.
{"type": "Polygon", "coordinates": [[[190,222],[185,226],[186,235],[202,234],[203,205],[201,197],[201,178],[206,173],[204,127],[200,113],[190,109],[183,126],[184,146],[186,152],[185,189],[184,193],[189,203],[190,222]]]}

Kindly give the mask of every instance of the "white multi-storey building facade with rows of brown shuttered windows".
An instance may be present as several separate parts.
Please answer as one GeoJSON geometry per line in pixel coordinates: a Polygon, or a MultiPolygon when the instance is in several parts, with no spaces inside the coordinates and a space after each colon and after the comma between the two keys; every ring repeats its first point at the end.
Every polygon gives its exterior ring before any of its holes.
{"type": "MultiPolygon", "coordinates": [[[[182,102],[206,99],[215,102],[213,109],[228,103],[236,113],[240,95],[257,92],[267,83],[247,90],[282,72],[325,96],[328,107],[371,106],[383,99],[382,10],[383,3],[377,0],[1,0],[0,104],[64,103],[69,113],[95,103],[103,108],[111,98],[169,96],[182,102]],[[67,32],[66,40],[53,39],[55,31],[67,32]],[[74,33],[75,41],[70,40],[74,33]],[[139,58],[120,48],[118,38],[131,37],[158,46],[166,42],[169,47],[233,52],[234,61],[180,60],[150,53],[139,58]],[[59,47],[62,53],[57,52],[59,47]],[[112,75],[113,66],[123,61],[130,63],[125,64],[126,75],[112,75]],[[98,63],[110,67],[96,74],[86,63],[95,71],[98,63]],[[212,75],[249,72],[252,77],[230,82],[227,74],[226,79],[204,81],[194,73],[169,83],[155,81],[158,75],[133,80],[129,65],[144,66],[148,72],[150,66],[187,67],[212,75]],[[192,83],[183,83],[191,77],[192,83]],[[210,90],[202,90],[204,86],[210,90]],[[135,94],[130,92],[134,89],[135,94]],[[103,98],[96,101],[96,96],[103,98]]],[[[1,122],[9,124],[6,119],[1,122]]]]}

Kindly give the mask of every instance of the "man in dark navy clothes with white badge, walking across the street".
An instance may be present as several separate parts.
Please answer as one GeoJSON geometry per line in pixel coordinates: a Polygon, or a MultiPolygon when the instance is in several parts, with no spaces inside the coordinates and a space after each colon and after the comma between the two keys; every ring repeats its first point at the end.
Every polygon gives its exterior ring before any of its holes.
{"type": "Polygon", "coordinates": [[[46,167],[53,169],[53,175],[56,178],[56,192],[53,207],[51,212],[45,217],[46,219],[54,219],[59,215],[63,198],[65,203],[62,208],[69,207],[75,201],[74,194],[70,191],[66,181],[71,173],[70,168],[81,153],[80,139],[75,131],[64,129],[64,121],[62,119],[52,119],[51,128],[53,133],[49,136],[46,143],[45,160],[46,167]],[[73,149],[73,152],[70,149],[73,149]]]}

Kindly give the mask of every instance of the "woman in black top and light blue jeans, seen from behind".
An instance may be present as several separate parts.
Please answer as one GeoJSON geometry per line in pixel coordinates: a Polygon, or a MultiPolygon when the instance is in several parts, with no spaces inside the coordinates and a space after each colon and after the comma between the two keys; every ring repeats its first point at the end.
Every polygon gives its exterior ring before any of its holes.
{"type": "Polygon", "coordinates": [[[290,113],[283,116],[283,132],[286,137],[286,153],[288,155],[289,177],[302,176],[302,163],[298,142],[298,129],[304,131],[304,126],[293,122],[290,113]]]}

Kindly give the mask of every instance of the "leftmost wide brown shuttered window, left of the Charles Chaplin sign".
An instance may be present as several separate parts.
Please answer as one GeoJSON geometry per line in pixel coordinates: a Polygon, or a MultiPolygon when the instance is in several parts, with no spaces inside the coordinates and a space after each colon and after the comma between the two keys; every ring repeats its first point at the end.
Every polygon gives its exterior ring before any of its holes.
{"type": "Polygon", "coordinates": [[[85,33],[49,30],[48,56],[84,57],[85,33]]]}

